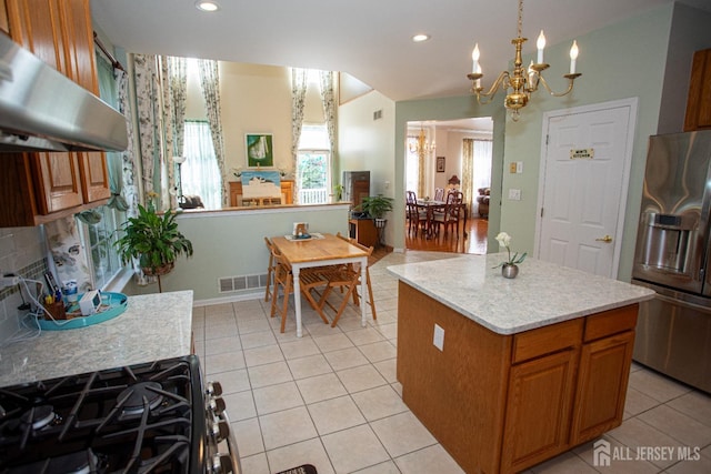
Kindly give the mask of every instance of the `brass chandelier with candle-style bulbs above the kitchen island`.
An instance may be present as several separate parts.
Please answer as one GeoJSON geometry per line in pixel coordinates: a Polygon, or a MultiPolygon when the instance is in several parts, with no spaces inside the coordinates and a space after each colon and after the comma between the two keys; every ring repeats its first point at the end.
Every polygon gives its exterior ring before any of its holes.
{"type": "Polygon", "coordinates": [[[531,93],[538,90],[539,84],[553,97],[563,97],[573,90],[573,81],[581,74],[575,72],[575,60],[578,59],[578,43],[573,41],[573,46],[570,48],[570,72],[563,74],[563,78],[568,79],[568,90],[564,92],[553,92],[545,82],[542,72],[547,70],[550,64],[543,62],[543,48],[545,48],[545,37],[543,30],[538,37],[535,46],[538,48],[538,57],[535,63],[531,61],[528,70],[523,68],[523,60],[521,59],[521,47],[527,41],[527,38],[521,37],[521,29],[523,24],[523,0],[519,0],[519,23],[518,23],[518,37],[511,40],[511,44],[515,47],[515,57],[513,60],[513,71],[503,71],[499,74],[491,89],[488,92],[483,92],[481,87],[481,67],[479,65],[479,43],[474,46],[474,50],[471,53],[473,60],[472,72],[467,77],[472,81],[472,92],[477,94],[477,101],[485,105],[490,103],[493,95],[499,88],[503,88],[507,91],[504,100],[504,107],[511,110],[511,118],[513,121],[519,120],[519,110],[524,108],[531,98],[531,93]],[[510,91],[509,91],[510,90],[510,91]],[[488,100],[487,100],[488,99],[488,100]]]}

